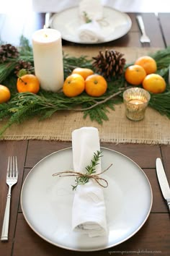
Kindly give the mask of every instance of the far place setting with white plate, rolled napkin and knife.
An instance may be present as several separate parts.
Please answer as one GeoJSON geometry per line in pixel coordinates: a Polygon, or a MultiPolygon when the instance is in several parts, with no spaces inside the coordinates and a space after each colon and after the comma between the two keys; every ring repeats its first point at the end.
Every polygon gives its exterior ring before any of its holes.
{"type": "Polygon", "coordinates": [[[101,1],[80,1],[76,7],[56,14],[46,14],[45,24],[61,32],[64,40],[72,43],[107,43],[127,34],[132,25],[128,14],[101,1]],[[91,5],[92,4],[92,5],[91,5]]]}

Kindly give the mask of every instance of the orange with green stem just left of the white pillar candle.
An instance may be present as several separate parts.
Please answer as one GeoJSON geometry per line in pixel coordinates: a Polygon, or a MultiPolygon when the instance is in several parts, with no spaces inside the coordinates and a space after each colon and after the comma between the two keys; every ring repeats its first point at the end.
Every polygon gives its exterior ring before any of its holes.
{"type": "Polygon", "coordinates": [[[19,93],[37,93],[40,90],[40,82],[34,74],[24,74],[17,79],[19,93]]]}

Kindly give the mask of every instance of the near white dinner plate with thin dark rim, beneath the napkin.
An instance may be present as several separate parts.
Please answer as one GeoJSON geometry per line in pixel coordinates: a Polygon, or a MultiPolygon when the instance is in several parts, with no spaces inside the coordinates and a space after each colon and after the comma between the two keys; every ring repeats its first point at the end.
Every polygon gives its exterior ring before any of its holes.
{"type": "Polygon", "coordinates": [[[133,236],[146,222],[151,211],[151,184],[142,169],[115,150],[101,148],[108,236],[89,238],[72,231],[71,209],[74,177],[53,176],[73,169],[72,148],[59,150],[38,162],[24,180],[21,206],[24,218],[42,239],[75,251],[97,251],[114,247],[133,236]]]}

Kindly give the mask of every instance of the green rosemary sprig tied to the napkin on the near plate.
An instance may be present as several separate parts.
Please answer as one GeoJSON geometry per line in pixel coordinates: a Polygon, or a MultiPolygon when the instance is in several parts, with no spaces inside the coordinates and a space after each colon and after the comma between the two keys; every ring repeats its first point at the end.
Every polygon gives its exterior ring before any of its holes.
{"type": "Polygon", "coordinates": [[[97,150],[97,153],[94,152],[94,156],[91,159],[91,164],[86,166],[86,174],[84,176],[76,176],[75,185],[72,185],[72,189],[76,190],[77,186],[86,184],[89,182],[89,175],[96,172],[96,166],[99,164],[99,159],[102,157],[102,151],[97,150]],[[86,176],[87,175],[87,176],[86,176]]]}

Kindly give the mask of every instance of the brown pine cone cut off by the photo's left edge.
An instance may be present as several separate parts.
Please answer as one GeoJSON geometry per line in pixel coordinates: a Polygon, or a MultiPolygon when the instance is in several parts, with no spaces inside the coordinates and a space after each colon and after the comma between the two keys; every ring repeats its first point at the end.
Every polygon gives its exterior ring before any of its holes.
{"type": "Polygon", "coordinates": [[[17,58],[19,52],[16,47],[12,46],[10,43],[6,43],[0,46],[0,63],[4,63],[7,58],[17,58]]]}

